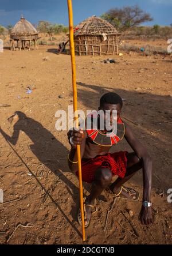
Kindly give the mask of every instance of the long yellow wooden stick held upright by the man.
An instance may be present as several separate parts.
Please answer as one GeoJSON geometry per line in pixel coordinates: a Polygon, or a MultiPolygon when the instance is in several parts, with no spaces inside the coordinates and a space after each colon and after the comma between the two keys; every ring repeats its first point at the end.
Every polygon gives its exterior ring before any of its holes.
{"type": "MultiPolygon", "coordinates": [[[[69,12],[69,32],[70,32],[70,48],[71,48],[71,62],[72,62],[72,83],[73,83],[73,107],[75,111],[75,125],[79,128],[78,114],[77,114],[77,88],[76,88],[76,64],[75,64],[75,46],[73,38],[73,12],[72,12],[72,0],[68,0],[68,12],[69,12]]],[[[83,241],[85,241],[85,224],[84,224],[84,207],[83,207],[83,182],[81,172],[81,153],[80,145],[77,145],[77,159],[79,167],[79,186],[80,186],[80,209],[83,227],[83,241]]]]}

